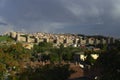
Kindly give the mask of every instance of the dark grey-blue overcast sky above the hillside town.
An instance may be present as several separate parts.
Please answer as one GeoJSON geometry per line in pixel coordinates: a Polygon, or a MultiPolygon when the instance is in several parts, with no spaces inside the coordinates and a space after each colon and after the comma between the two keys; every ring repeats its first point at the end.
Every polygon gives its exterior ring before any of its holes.
{"type": "Polygon", "coordinates": [[[0,0],[6,31],[120,37],[120,0],[0,0]]]}

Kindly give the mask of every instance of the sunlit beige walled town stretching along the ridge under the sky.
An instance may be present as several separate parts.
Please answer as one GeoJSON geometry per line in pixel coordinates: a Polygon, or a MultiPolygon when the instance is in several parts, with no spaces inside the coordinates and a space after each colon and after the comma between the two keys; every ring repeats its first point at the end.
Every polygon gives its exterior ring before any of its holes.
{"type": "Polygon", "coordinates": [[[50,42],[54,46],[63,44],[67,46],[84,46],[84,45],[97,45],[97,44],[111,44],[115,42],[114,38],[111,37],[99,37],[99,36],[83,36],[77,34],[52,34],[52,33],[22,33],[22,32],[10,32],[9,36],[16,41],[26,43],[39,43],[39,42],[50,42]]]}

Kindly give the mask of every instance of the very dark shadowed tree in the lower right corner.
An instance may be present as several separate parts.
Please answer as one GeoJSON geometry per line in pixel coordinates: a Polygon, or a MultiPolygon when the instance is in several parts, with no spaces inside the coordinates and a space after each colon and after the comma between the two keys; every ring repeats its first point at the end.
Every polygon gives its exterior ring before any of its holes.
{"type": "Polygon", "coordinates": [[[120,51],[111,49],[101,53],[94,69],[99,71],[94,75],[98,76],[100,80],[120,80],[120,51]]]}

